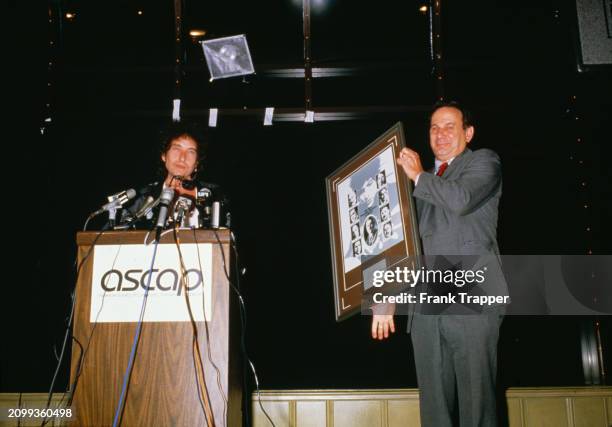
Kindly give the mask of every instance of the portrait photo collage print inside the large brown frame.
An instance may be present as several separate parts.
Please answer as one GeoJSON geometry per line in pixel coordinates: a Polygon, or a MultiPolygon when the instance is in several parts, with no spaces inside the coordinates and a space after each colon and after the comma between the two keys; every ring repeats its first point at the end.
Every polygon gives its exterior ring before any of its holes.
{"type": "Polygon", "coordinates": [[[404,239],[392,147],[338,185],[344,271],[404,239]]]}

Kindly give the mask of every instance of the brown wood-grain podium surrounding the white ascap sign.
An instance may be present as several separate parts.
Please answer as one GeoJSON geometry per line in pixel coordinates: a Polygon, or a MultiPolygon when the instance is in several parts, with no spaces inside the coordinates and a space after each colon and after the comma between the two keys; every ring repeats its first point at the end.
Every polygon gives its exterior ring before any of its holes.
{"type": "MultiPolygon", "coordinates": [[[[77,234],[79,263],[97,234],[77,234]]],[[[95,246],[143,245],[145,235],[141,231],[105,232],[95,246]]],[[[197,358],[193,351],[197,336],[214,425],[239,426],[242,422],[240,322],[237,297],[224,272],[224,268],[228,274],[230,271],[230,233],[217,230],[215,236],[212,230],[195,233],[181,230],[179,236],[181,245],[210,244],[212,248],[212,319],[208,322],[208,333],[205,322],[195,322],[197,334],[189,321],[143,323],[120,425],[207,425],[198,394],[197,358]]],[[[173,233],[162,237],[162,245],[175,246],[173,233]]],[[[77,279],[73,334],[83,347],[91,341],[73,393],[76,418],[71,425],[98,427],[113,423],[137,323],[91,322],[93,256],[92,252],[77,279]]],[[[80,356],[81,349],[73,342],[71,384],[77,375],[80,356]]]]}

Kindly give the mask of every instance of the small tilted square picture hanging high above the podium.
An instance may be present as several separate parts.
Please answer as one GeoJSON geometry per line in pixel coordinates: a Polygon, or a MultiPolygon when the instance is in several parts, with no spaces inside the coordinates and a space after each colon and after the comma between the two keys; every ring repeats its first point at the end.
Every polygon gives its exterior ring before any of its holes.
{"type": "Polygon", "coordinates": [[[210,72],[210,81],[255,73],[244,34],[200,42],[210,72]]]}

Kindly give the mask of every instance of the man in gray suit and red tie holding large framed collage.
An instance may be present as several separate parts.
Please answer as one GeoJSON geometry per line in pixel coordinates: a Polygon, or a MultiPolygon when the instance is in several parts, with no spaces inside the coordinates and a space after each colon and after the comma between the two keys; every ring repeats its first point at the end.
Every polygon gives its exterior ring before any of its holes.
{"type": "MultiPolygon", "coordinates": [[[[473,137],[469,112],[455,102],[438,103],[429,129],[434,170],[424,171],[418,153],[409,148],[402,149],[397,163],[415,184],[424,254],[483,256],[497,273],[497,280],[487,282],[487,294],[505,295],[496,232],[501,164],[491,150],[467,148],[473,137]]],[[[486,306],[479,314],[417,313],[411,318],[423,427],[452,426],[457,397],[462,427],[497,425],[497,340],[503,312],[503,307],[486,306]]],[[[374,313],[373,338],[395,332],[393,311],[387,307],[374,313]]]]}

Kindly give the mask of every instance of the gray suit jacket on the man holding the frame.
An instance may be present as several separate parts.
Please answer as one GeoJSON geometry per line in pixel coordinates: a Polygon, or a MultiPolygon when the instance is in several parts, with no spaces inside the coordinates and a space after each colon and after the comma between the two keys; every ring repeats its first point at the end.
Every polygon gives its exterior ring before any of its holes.
{"type": "Polygon", "coordinates": [[[508,295],[497,245],[501,192],[499,156],[466,148],[441,177],[422,173],[412,193],[426,264],[428,256],[442,255],[472,270],[486,267],[485,282],[476,291],[495,296],[508,295]]]}

